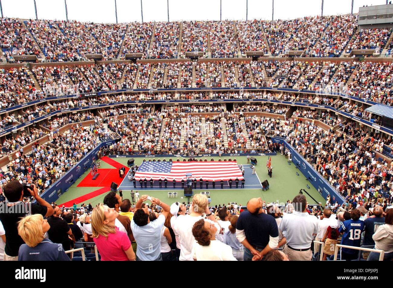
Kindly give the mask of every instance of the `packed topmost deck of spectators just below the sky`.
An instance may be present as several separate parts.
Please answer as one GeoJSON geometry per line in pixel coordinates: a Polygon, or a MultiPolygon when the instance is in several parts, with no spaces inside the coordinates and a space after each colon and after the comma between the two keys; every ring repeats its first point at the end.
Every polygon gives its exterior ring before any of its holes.
{"type": "Polygon", "coordinates": [[[123,24],[0,19],[4,62],[15,62],[13,55],[37,55],[39,62],[88,61],[88,54],[115,60],[137,52],[147,59],[176,59],[186,51],[203,51],[205,58],[241,57],[248,50],[274,57],[288,50],[308,57],[343,57],[352,49],[386,55],[390,42],[391,28],[360,29],[356,15],[123,24]]]}

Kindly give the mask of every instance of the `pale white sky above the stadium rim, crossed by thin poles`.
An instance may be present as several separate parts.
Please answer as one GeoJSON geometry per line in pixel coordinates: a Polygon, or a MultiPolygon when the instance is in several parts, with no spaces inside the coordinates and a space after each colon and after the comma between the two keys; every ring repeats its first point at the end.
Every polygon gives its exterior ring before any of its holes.
{"type": "MultiPolygon", "coordinates": [[[[66,0],[68,20],[115,23],[115,0],[66,0]]],[[[351,0],[324,0],[323,15],[351,13],[351,0]]],[[[34,0],[1,0],[4,17],[35,18],[34,0]]],[[[140,0],[117,0],[118,22],[141,21],[140,0]]],[[[142,0],[143,21],[166,21],[167,0],[142,0]]],[[[39,19],[65,20],[64,0],[36,0],[39,19]]],[[[386,0],[354,0],[353,12],[386,0]]],[[[321,0],[274,0],[274,19],[321,15],[321,0]]],[[[222,20],[245,20],[246,0],[222,0],[222,20]]],[[[272,0],[248,0],[248,19],[272,19],[272,0]]],[[[169,20],[220,20],[220,0],[169,0],[169,20]]]]}

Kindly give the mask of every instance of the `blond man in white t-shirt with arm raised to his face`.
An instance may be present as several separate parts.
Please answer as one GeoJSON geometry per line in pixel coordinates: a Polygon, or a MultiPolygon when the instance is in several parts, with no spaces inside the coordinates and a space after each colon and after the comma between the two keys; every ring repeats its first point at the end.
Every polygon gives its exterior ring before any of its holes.
{"type": "Polygon", "coordinates": [[[179,235],[180,261],[193,261],[191,250],[193,248],[195,238],[193,236],[192,229],[196,221],[204,219],[204,217],[202,217],[204,213],[206,213],[206,216],[208,217],[205,221],[209,221],[217,227],[216,236],[221,229],[220,224],[209,210],[208,198],[205,195],[195,194],[189,211],[189,215],[179,215],[177,217],[173,229],[173,231],[179,235]]]}

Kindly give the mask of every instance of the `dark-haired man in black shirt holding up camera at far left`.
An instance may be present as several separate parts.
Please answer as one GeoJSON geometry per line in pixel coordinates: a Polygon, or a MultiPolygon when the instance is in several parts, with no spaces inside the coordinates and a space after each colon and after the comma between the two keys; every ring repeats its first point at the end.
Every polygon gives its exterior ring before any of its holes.
{"type": "Polygon", "coordinates": [[[13,180],[4,187],[4,195],[7,197],[6,213],[0,212],[0,221],[6,231],[6,247],[4,253],[5,261],[17,261],[19,247],[24,244],[22,238],[18,235],[18,221],[28,213],[41,214],[44,217],[53,215],[52,206],[38,195],[38,189],[35,185],[30,188],[20,184],[18,180],[13,180]],[[37,203],[24,204],[23,197],[33,196],[37,203]],[[31,205],[31,206],[30,206],[31,205]]]}

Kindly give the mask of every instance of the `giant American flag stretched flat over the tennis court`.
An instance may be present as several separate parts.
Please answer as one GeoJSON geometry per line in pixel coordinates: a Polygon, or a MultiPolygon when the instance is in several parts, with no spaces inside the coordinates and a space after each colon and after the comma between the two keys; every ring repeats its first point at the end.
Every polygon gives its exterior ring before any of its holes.
{"type": "Polygon", "coordinates": [[[135,179],[159,180],[167,178],[168,181],[182,181],[187,179],[186,173],[192,173],[191,178],[209,181],[219,180],[239,180],[243,179],[243,174],[239,166],[234,161],[206,161],[206,162],[169,162],[169,161],[152,161],[142,162],[138,171],[135,173],[135,179]]]}

